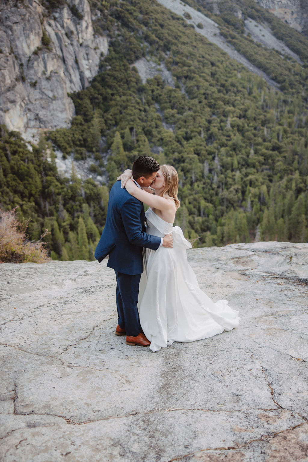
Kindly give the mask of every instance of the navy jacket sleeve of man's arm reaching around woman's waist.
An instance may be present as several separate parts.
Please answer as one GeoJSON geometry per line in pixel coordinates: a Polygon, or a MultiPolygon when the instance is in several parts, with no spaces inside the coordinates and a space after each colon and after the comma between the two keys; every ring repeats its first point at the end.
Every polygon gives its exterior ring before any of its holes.
{"type": "Polygon", "coordinates": [[[125,202],[120,209],[120,213],[126,235],[131,244],[152,250],[158,249],[162,242],[161,237],[151,236],[142,231],[139,201],[125,202]]]}

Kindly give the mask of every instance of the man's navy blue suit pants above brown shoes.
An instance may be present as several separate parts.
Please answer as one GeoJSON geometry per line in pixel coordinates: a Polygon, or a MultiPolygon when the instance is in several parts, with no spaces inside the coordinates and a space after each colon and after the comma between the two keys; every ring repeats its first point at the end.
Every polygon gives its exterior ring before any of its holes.
{"type": "Polygon", "coordinates": [[[136,337],[142,332],[137,308],[141,274],[131,275],[115,271],[115,276],[118,324],[122,329],[126,329],[127,335],[136,337]]]}

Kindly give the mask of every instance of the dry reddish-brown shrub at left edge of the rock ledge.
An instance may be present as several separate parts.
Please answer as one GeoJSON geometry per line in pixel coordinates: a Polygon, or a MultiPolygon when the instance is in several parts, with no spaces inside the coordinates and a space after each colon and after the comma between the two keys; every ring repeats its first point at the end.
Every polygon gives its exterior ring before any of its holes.
{"type": "Polygon", "coordinates": [[[45,249],[42,238],[37,242],[30,242],[26,236],[27,223],[23,225],[16,216],[16,208],[6,212],[0,209],[0,263],[45,263],[50,258],[45,249]]]}

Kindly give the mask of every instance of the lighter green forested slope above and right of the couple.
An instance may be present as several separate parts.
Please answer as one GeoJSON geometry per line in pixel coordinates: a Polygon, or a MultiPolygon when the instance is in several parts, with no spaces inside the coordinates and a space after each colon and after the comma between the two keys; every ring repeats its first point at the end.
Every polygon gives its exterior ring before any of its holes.
{"type": "Polygon", "coordinates": [[[260,232],[263,239],[306,239],[308,139],[302,95],[307,70],[256,45],[256,59],[265,54],[272,63],[275,56],[284,95],[229,59],[185,18],[156,3],[113,2],[108,11],[100,8],[97,26],[103,29],[113,18],[117,36],[110,30],[103,73],[73,97],[83,128],[76,123],[68,132],[51,134],[54,142],[66,153],[89,150],[79,133],[98,114],[113,153],[107,166],[111,181],[149,147],[161,152],[159,159],[179,170],[177,223],[192,239],[200,236],[199,244],[248,241],[260,238],[260,232]],[[175,88],[158,75],[142,85],[132,67],[142,55],[158,68],[164,63],[175,88]],[[92,108],[86,117],[85,108],[92,108]],[[124,148],[113,150],[116,132],[124,148]]]}

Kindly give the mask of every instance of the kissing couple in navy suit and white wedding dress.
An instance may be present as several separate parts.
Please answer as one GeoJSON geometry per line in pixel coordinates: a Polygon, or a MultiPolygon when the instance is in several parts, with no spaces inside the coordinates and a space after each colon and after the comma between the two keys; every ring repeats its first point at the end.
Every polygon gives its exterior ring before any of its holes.
{"type": "Polygon", "coordinates": [[[155,352],[174,341],[201,340],[237,327],[238,311],[227,300],[213,303],[200,290],[187,261],[192,246],[173,226],[180,207],[175,168],[142,155],[118,180],[95,250],[99,262],[109,255],[107,266],[115,271],[115,334],[126,335],[127,345],[155,352]],[[143,203],[149,206],[146,213],[143,203]]]}

